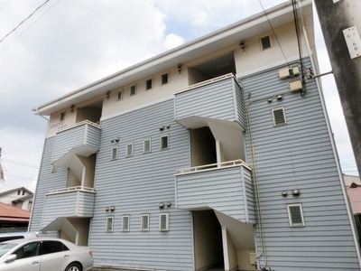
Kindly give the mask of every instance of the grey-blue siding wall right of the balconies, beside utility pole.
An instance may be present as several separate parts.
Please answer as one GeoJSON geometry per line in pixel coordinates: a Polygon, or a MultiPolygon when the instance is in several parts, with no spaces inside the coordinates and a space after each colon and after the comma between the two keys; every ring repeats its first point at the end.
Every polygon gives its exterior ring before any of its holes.
{"type": "MultiPolygon", "coordinates": [[[[310,67],[309,60],[307,66],[310,67]]],[[[267,102],[267,96],[286,93],[288,81],[279,79],[277,69],[241,79],[245,97],[251,96],[248,102],[259,99],[251,103],[249,115],[267,266],[280,271],[359,270],[316,82],[307,80],[308,93],[304,98],[300,93],[289,93],[282,101],[273,98],[273,102],[267,102]],[[284,107],[285,126],[273,126],[272,109],[277,107],[284,107]],[[301,196],[293,197],[292,189],[300,189],[301,196]],[[288,196],[282,197],[282,191],[288,196]],[[305,227],[289,227],[290,203],[302,204],[305,227]]],[[[249,133],[246,142],[248,164],[253,164],[249,133]]]]}

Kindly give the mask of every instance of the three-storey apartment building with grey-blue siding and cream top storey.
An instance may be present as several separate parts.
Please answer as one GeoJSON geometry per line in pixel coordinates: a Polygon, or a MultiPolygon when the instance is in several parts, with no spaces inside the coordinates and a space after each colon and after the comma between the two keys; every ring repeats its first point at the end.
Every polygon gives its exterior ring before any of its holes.
{"type": "Polygon", "coordinates": [[[360,270],[301,3],[34,109],[30,230],[90,246],[95,270],[360,270]]]}

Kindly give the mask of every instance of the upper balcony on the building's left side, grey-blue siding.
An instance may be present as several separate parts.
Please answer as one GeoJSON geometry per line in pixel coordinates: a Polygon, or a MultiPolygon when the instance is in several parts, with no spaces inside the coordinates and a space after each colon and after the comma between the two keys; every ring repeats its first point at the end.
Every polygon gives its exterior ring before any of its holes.
{"type": "Polygon", "coordinates": [[[51,163],[69,167],[74,155],[97,153],[100,145],[100,126],[88,120],[61,130],[55,135],[51,163]]]}

